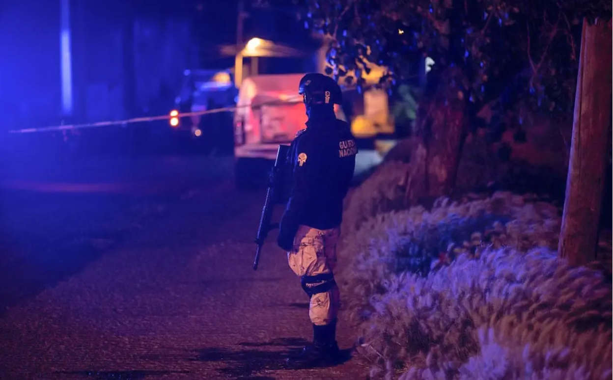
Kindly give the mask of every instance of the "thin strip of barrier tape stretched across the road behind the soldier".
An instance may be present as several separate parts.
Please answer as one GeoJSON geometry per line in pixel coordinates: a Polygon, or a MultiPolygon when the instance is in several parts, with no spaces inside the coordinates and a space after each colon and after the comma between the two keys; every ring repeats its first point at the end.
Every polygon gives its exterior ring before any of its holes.
{"type": "Polygon", "coordinates": [[[59,126],[13,129],[9,131],[9,133],[10,134],[25,134],[25,133],[34,133],[34,132],[66,131],[70,129],[83,129],[83,128],[106,127],[106,126],[132,124],[132,123],[145,123],[147,121],[170,120],[171,118],[188,118],[191,116],[207,115],[209,113],[234,112],[235,110],[240,109],[240,108],[257,108],[257,107],[262,107],[263,105],[298,104],[300,102],[302,102],[302,97],[300,97],[300,101],[298,100],[296,101],[275,100],[275,101],[270,101],[270,102],[262,102],[258,104],[238,105],[234,107],[213,108],[211,110],[202,110],[202,111],[197,111],[197,112],[178,113],[176,115],[169,114],[169,115],[162,115],[162,116],[145,116],[145,117],[140,117],[140,118],[126,119],[126,120],[97,121],[96,123],[63,124],[59,126]]]}

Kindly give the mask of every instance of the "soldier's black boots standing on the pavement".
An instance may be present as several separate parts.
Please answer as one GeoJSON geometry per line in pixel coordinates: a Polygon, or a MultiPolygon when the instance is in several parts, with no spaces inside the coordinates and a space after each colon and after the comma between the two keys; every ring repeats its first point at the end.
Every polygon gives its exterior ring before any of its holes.
{"type": "Polygon", "coordinates": [[[312,368],[334,365],[340,359],[336,341],[337,323],[313,325],[313,344],[302,349],[300,354],[289,357],[290,367],[312,368]]]}

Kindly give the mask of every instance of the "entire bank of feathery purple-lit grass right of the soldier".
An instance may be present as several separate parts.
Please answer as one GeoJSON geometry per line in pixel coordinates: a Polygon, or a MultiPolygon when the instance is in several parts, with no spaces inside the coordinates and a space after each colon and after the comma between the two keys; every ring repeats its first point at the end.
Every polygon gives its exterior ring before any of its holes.
{"type": "Polygon", "coordinates": [[[403,209],[385,188],[407,164],[388,165],[351,197],[338,253],[373,378],[611,378],[611,268],[556,257],[557,207],[495,192],[403,209]]]}

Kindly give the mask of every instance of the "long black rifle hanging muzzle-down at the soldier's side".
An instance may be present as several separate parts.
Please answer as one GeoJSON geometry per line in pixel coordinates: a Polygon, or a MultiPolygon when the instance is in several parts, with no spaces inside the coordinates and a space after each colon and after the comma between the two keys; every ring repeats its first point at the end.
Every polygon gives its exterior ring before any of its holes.
{"type": "Polygon", "coordinates": [[[268,232],[279,227],[278,223],[271,224],[270,219],[272,218],[273,205],[281,199],[281,188],[283,187],[282,172],[287,158],[287,151],[289,151],[289,145],[279,145],[279,149],[276,151],[275,165],[272,167],[270,173],[264,207],[262,208],[262,216],[260,217],[260,224],[257,226],[257,248],[256,257],[253,260],[253,270],[257,270],[257,263],[260,260],[262,245],[264,245],[268,232]]]}

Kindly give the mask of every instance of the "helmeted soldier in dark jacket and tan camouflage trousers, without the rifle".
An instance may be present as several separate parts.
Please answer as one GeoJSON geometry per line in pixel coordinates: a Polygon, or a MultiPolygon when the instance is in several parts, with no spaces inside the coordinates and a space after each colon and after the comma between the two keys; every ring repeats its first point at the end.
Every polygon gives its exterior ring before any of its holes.
{"type": "MultiPolygon", "coordinates": [[[[341,89],[330,77],[307,74],[299,94],[308,115],[289,150],[291,190],[280,222],[278,245],[310,297],[313,344],[287,363],[331,364],[340,358],[336,341],[339,291],[334,281],[337,241],[345,198],[353,177],[357,147],[349,124],[337,120],[341,89]]],[[[289,171],[288,170],[288,171],[289,171]]]]}

